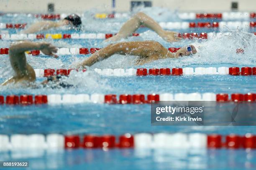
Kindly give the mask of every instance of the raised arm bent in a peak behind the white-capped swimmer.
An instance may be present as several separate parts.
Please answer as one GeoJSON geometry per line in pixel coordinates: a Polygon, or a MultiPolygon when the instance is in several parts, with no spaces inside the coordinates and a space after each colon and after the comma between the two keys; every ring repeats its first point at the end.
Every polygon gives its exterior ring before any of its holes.
{"type": "Polygon", "coordinates": [[[161,26],[156,23],[152,18],[144,13],[137,13],[130,20],[128,20],[120,29],[117,35],[108,38],[105,41],[117,41],[122,38],[131,36],[141,25],[154,30],[158,35],[160,35],[164,40],[168,42],[179,41],[181,38],[178,37],[177,32],[166,31],[161,28],[161,26]]]}

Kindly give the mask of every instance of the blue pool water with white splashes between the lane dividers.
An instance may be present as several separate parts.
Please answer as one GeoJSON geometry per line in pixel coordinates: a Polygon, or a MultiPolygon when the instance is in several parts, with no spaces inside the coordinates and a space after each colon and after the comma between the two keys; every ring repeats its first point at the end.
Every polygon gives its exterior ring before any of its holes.
{"type": "MultiPolygon", "coordinates": [[[[158,9],[161,11],[161,9],[158,9]]],[[[169,14],[165,10],[163,13],[169,14]]],[[[158,17],[158,21],[180,21],[172,17],[158,17]]],[[[106,26],[106,23],[124,22],[124,19],[94,20],[90,13],[85,13],[82,32],[115,33],[121,25],[106,26]]],[[[155,16],[152,15],[154,18],[155,16]]],[[[32,23],[37,19],[28,17],[0,16],[2,23],[32,23]],[[22,19],[22,20],[20,20],[22,19]]],[[[2,30],[1,33],[15,33],[16,30],[2,30]]],[[[212,32],[207,29],[177,30],[178,32],[212,32]]],[[[219,30],[215,30],[219,31],[219,30]]],[[[192,40],[168,43],[156,33],[140,28],[139,37],[128,37],[128,40],[156,40],[165,47],[181,47],[192,43],[192,40]]],[[[255,76],[230,75],[190,75],[190,76],[146,76],[146,77],[106,77],[94,72],[94,68],[152,68],[152,67],[255,67],[256,36],[249,32],[254,30],[230,30],[232,35],[221,35],[200,42],[204,47],[192,57],[157,60],[142,66],[134,65],[135,56],[114,55],[101,61],[85,73],[72,73],[67,79],[76,88],[24,88],[16,86],[0,87],[1,95],[10,94],[78,94],[78,93],[191,93],[191,92],[256,92],[255,76]],[[244,54],[236,54],[236,49],[245,48],[244,54]]],[[[74,33],[72,30],[44,31],[42,33],[74,33]]],[[[102,40],[49,40],[57,47],[104,47],[108,43],[102,40]]],[[[0,41],[0,47],[8,47],[10,41],[0,41]]],[[[61,55],[53,59],[44,55],[27,56],[33,68],[71,68],[74,63],[84,60],[89,55],[61,55]]],[[[13,72],[7,55],[0,56],[0,82],[10,77],[13,72]]],[[[38,78],[36,83],[44,78],[38,78]]],[[[62,134],[113,134],[123,133],[256,133],[255,127],[221,127],[221,126],[151,126],[150,105],[44,105],[44,106],[1,106],[0,134],[15,133],[62,133],[62,134]]],[[[255,150],[30,150],[0,153],[0,160],[29,160],[30,169],[256,169],[255,150]]]]}

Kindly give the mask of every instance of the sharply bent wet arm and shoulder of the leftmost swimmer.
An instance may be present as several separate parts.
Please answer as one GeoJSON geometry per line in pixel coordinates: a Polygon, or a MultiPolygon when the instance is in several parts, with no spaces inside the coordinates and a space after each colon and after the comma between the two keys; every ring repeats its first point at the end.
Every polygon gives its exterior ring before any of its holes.
{"type": "Polygon", "coordinates": [[[33,82],[36,80],[36,74],[27,63],[25,52],[28,50],[41,50],[44,54],[53,57],[58,57],[54,55],[53,52],[57,52],[56,47],[47,42],[31,42],[31,41],[16,41],[10,45],[9,57],[10,64],[15,72],[15,75],[10,79],[3,82],[2,85],[7,85],[9,83],[26,83],[33,82]]]}

